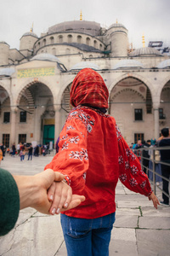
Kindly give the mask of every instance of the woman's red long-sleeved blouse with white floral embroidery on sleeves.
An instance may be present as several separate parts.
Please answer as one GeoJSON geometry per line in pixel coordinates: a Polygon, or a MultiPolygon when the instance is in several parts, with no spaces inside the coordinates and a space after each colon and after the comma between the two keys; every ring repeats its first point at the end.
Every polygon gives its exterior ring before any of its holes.
{"type": "Polygon", "coordinates": [[[78,106],[69,113],[59,136],[59,153],[47,168],[64,173],[73,194],[86,197],[80,206],[64,212],[71,217],[99,218],[115,212],[118,177],[134,192],[152,192],[115,119],[94,108],[78,106]]]}

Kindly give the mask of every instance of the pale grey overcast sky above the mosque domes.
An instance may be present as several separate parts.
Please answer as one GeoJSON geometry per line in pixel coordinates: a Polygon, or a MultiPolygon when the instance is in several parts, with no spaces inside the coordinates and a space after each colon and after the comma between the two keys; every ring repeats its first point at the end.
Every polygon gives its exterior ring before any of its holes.
{"type": "Polygon", "coordinates": [[[96,21],[109,27],[119,23],[128,30],[129,43],[142,47],[149,41],[163,41],[170,46],[170,0],[0,0],[0,41],[10,48],[20,48],[20,38],[30,32],[40,37],[49,26],[69,20],[96,21]]]}

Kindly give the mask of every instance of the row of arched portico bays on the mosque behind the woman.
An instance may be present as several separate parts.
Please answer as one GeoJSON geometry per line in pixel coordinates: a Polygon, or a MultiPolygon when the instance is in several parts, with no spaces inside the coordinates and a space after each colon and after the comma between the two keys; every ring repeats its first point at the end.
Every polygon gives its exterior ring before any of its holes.
{"type": "MultiPolygon", "coordinates": [[[[67,74],[65,74],[66,76],[67,74]]],[[[74,79],[76,73],[71,74],[74,79]]],[[[102,74],[101,74],[102,75],[102,74]]],[[[70,78],[70,76],[68,75],[70,78]]],[[[72,80],[71,79],[71,80],[72,80]]],[[[114,116],[127,143],[138,138],[159,136],[161,128],[169,127],[170,81],[161,89],[160,96],[153,88],[133,76],[120,79],[111,88],[109,79],[105,84],[110,92],[108,113],[114,116]]],[[[12,143],[55,143],[70,108],[71,82],[61,96],[54,95],[48,84],[27,84],[15,97],[0,85],[0,140],[11,147],[12,143]],[[14,102],[16,102],[14,104],[14,102]]],[[[62,91],[62,83],[59,91],[62,91]]],[[[59,95],[59,94],[58,94],[59,95]]]]}

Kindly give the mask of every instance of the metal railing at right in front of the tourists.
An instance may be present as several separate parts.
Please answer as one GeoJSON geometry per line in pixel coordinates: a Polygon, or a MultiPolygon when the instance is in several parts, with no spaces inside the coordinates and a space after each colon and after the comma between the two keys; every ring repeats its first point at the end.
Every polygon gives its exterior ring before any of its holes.
{"type": "MultiPolygon", "coordinates": [[[[161,193],[164,195],[167,195],[167,197],[170,198],[170,195],[168,195],[161,187],[156,184],[156,176],[161,177],[162,180],[166,180],[167,182],[170,182],[170,179],[167,177],[163,177],[160,173],[156,172],[156,165],[161,164],[161,166],[169,166],[170,170],[170,162],[165,162],[161,161],[161,156],[160,156],[160,150],[170,150],[170,147],[150,147],[150,148],[138,148],[138,149],[133,149],[133,153],[137,155],[141,159],[141,166],[142,169],[147,170],[146,174],[149,177],[149,172],[153,174],[153,181],[150,180],[150,183],[153,184],[153,191],[156,195],[156,189],[160,189],[161,193]],[[143,151],[148,151],[150,154],[150,157],[144,157],[143,156],[143,151]],[[150,169],[149,166],[144,166],[143,160],[149,160],[152,163],[152,168],[150,169]]],[[[170,160],[170,155],[169,155],[169,160],[170,160]]],[[[150,177],[149,177],[150,178],[150,177]]]]}

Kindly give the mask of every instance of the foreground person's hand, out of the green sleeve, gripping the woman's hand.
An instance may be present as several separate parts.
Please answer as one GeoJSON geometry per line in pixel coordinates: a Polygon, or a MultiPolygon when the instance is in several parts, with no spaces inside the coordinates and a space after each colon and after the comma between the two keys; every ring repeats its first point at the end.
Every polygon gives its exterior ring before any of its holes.
{"type": "MultiPolygon", "coordinates": [[[[20,209],[33,207],[38,212],[49,214],[51,201],[48,200],[48,189],[54,181],[60,183],[64,178],[64,175],[51,169],[35,176],[14,176],[20,194],[20,209]]],[[[82,197],[77,197],[76,201],[70,200],[69,207],[75,207],[83,200],[82,197]]]]}

